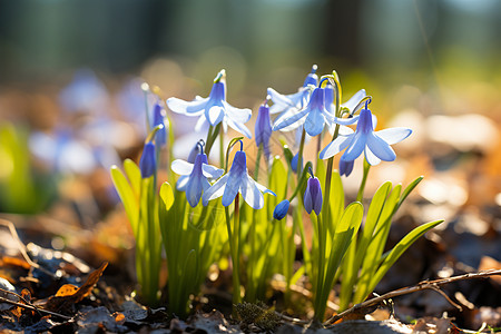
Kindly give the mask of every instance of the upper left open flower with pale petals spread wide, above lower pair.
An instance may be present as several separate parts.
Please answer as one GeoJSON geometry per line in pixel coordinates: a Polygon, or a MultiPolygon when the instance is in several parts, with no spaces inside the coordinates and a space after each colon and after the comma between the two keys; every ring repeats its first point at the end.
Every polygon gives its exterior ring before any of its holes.
{"type": "MultiPolygon", "coordinates": [[[[250,109],[239,109],[230,106],[226,101],[225,70],[222,70],[214,79],[213,89],[207,98],[196,98],[193,101],[185,101],[178,98],[167,99],[167,106],[177,114],[187,116],[200,116],[203,120],[212,126],[223,122],[226,132],[228,126],[247,138],[252,138],[249,129],[244,125],[250,119],[250,109]]],[[[200,127],[200,125],[197,125],[200,127]]]]}

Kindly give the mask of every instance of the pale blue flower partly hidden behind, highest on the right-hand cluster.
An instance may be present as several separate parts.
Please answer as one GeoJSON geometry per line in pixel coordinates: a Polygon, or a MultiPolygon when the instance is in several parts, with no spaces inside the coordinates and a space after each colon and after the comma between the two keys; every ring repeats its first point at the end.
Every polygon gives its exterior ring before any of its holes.
{"type": "Polygon", "coordinates": [[[273,100],[273,106],[269,108],[271,114],[285,112],[289,109],[301,110],[308,102],[312,90],[308,86],[316,86],[318,84],[318,76],[316,72],[316,65],[312,67],[312,72],[306,76],[303,87],[296,94],[282,95],[273,88],[267,89],[267,94],[273,100]]]}

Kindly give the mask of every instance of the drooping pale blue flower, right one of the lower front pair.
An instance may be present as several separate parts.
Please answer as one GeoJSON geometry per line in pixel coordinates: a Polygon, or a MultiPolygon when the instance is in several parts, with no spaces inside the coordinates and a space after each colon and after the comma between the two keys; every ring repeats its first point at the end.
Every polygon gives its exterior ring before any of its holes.
{"type": "Polygon", "coordinates": [[[240,141],[240,150],[235,154],[235,158],[229,171],[219,178],[210,188],[208,188],[203,197],[202,204],[206,206],[209,200],[223,196],[223,205],[228,206],[233,203],[238,193],[242,194],[244,200],[254,209],[261,209],[264,206],[264,197],[262,193],[275,193],[268,190],[265,186],[256,183],[247,173],[247,157],[243,151],[240,141]]]}

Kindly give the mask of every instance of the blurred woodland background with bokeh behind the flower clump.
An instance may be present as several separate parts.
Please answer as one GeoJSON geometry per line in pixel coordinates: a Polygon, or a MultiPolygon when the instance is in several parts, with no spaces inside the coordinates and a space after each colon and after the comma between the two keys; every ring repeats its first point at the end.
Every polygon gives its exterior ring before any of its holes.
{"type": "MultiPolygon", "coordinates": [[[[141,82],[190,100],[225,68],[228,101],[256,111],[267,87],[295,92],[317,63],[337,71],[343,100],[373,96],[379,129],[413,129],[366,194],[425,176],[401,223],[445,219],[433,271],[501,267],[500,59],[499,0],[0,0],[0,213],[43,213],[30,227],[53,234],[47,246],[112,262],[134,240],[109,167],[140,154],[141,82]]],[[[181,141],[190,127],[173,130],[181,141]]],[[[348,194],[361,168],[343,179],[348,194]]],[[[405,273],[395,285],[422,277],[405,273]]]]}

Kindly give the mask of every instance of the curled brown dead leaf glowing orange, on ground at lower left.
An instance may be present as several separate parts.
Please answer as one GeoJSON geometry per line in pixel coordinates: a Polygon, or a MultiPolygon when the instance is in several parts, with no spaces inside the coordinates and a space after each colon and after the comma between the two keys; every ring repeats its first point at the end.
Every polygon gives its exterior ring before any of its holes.
{"type": "Polygon", "coordinates": [[[84,299],[90,294],[90,292],[99,281],[99,277],[101,277],[102,272],[106,269],[108,263],[105,262],[98,269],[90,273],[86,283],[84,283],[84,285],[80,286],[72,294],[70,293],[70,291],[73,289],[73,286],[70,284],[63,285],[57,292],[56,296],[52,296],[47,301],[47,304],[43,306],[43,308],[52,312],[61,312],[68,310],[71,305],[81,302],[81,299],[84,299]]]}

